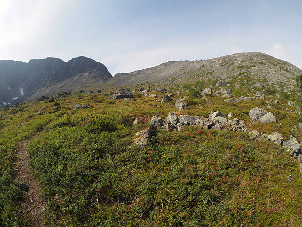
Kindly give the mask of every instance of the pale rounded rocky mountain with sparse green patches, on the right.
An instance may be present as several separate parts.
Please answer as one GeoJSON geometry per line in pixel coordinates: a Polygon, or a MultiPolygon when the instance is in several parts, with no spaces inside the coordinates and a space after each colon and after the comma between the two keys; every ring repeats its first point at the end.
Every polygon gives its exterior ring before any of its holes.
{"type": "Polygon", "coordinates": [[[293,85],[302,70],[287,61],[260,52],[235,53],[199,61],[169,61],[131,73],[117,73],[110,81],[114,86],[128,86],[161,81],[173,85],[201,79],[231,80],[233,77],[254,76],[268,83],[293,85]]]}

